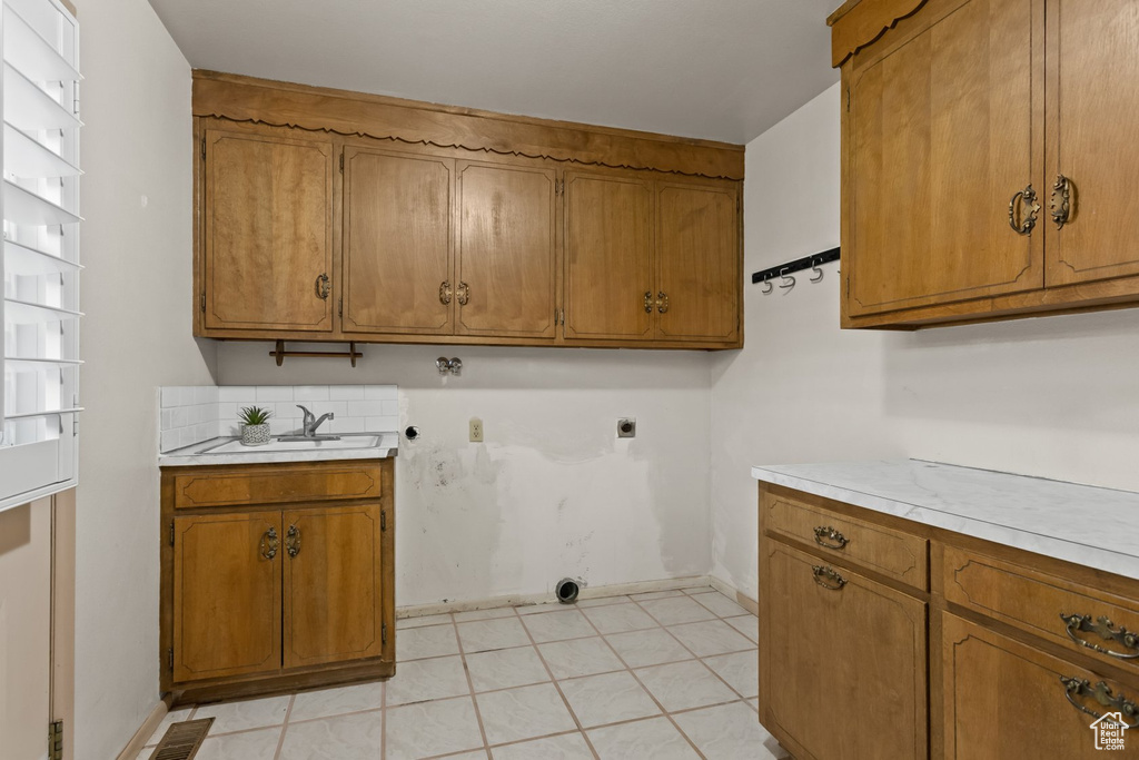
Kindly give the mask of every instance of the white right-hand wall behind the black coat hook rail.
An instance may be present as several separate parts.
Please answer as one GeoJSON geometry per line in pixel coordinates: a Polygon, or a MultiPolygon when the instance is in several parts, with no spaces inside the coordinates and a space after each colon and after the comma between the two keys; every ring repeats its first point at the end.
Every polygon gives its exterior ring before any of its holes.
{"type": "MultiPolygon", "coordinates": [[[[838,244],[838,93],[748,144],[745,272],[838,244]]],[[[839,330],[825,269],[786,295],[748,284],[746,348],[713,359],[715,575],[755,596],[755,464],[916,457],[1139,490],[1139,310],[839,330]]]]}

